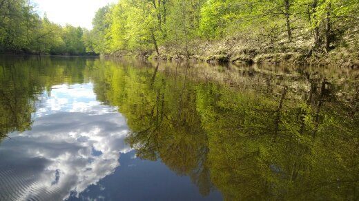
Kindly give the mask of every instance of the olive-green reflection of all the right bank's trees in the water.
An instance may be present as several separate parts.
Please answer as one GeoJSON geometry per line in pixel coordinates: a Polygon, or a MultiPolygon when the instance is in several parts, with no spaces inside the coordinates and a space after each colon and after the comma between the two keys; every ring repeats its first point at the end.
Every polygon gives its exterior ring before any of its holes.
{"type": "Polygon", "coordinates": [[[101,65],[96,92],[126,116],[137,155],[204,195],[214,185],[226,200],[358,199],[356,85],[242,73],[231,89],[193,81],[206,74],[197,68],[101,65]]]}

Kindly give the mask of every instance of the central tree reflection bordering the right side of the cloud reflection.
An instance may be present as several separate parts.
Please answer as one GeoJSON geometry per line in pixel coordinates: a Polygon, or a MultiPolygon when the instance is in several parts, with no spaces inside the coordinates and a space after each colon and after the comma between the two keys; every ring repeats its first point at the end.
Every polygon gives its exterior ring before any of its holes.
{"type": "MultiPolygon", "coordinates": [[[[111,104],[128,120],[133,131],[127,142],[137,149],[137,156],[161,159],[179,175],[191,175],[202,193],[211,189],[207,136],[195,107],[195,94],[186,79],[168,80],[158,68],[135,69],[108,65],[106,89],[96,84],[97,93],[106,93],[111,104]]],[[[97,83],[97,82],[96,82],[97,83]]],[[[99,95],[104,97],[104,95],[99,95]]]]}

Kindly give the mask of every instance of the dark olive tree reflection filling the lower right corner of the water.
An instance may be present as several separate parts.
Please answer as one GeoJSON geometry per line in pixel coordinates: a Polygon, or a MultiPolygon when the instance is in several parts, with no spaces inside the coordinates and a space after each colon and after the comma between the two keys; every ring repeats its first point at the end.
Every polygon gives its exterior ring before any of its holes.
{"type": "Polygon", "coordinates": [[[343,111],[347,103],[333,99],[326,81],[320,83],[309,92],[313,107],[305,98],[291,99],[295,92],[290,90],[284,103],[285,92],[278,97],[279,104],[228,90],[204,91],[200,113],[207,114],[202,123],[213,136],[211,178],[226,198],[357,198],[358,120],[348,116],[349,109],[343,111]],[[277,136],[274,141],[269,134],[277,136]]]}

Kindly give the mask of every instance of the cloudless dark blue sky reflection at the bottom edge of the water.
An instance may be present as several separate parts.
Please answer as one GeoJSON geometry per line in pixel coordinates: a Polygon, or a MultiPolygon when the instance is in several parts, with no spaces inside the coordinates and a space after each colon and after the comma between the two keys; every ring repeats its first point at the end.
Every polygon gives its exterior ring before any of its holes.
{"type": "Polygon", "coordinates": [[[191,179],[177,176],[160,161],[135,158],[135,151],[122,154],[115,173],[90,185],[77,200],[222,200],[218,191],[202,197],[191,179]]]}

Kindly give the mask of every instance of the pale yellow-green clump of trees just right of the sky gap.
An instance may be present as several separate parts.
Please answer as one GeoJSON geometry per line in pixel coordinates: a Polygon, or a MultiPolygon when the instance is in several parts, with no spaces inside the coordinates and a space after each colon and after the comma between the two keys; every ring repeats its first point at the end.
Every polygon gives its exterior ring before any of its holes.
{"type": "MultiPolygon", "coordinates": [[[[197,35],[202,1],[119,1],[98,10],[93,20],[97,53],[142,54],[160,45],[186,46],[197,35]]],[[[188,47],[178,49],[186,49],[188,47]]]]}

